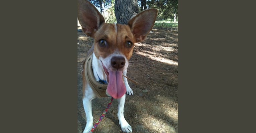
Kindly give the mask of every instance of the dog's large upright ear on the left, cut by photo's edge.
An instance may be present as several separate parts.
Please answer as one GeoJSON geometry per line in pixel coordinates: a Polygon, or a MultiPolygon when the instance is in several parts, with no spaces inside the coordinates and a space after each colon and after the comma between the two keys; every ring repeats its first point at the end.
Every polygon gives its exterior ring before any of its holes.
{"type": "Polygon", "coordinates": [[[78,0],[78,20],[83,32],[94,37],[94,33],[105,23],[101,13],[88,0],[78,0]]]}

